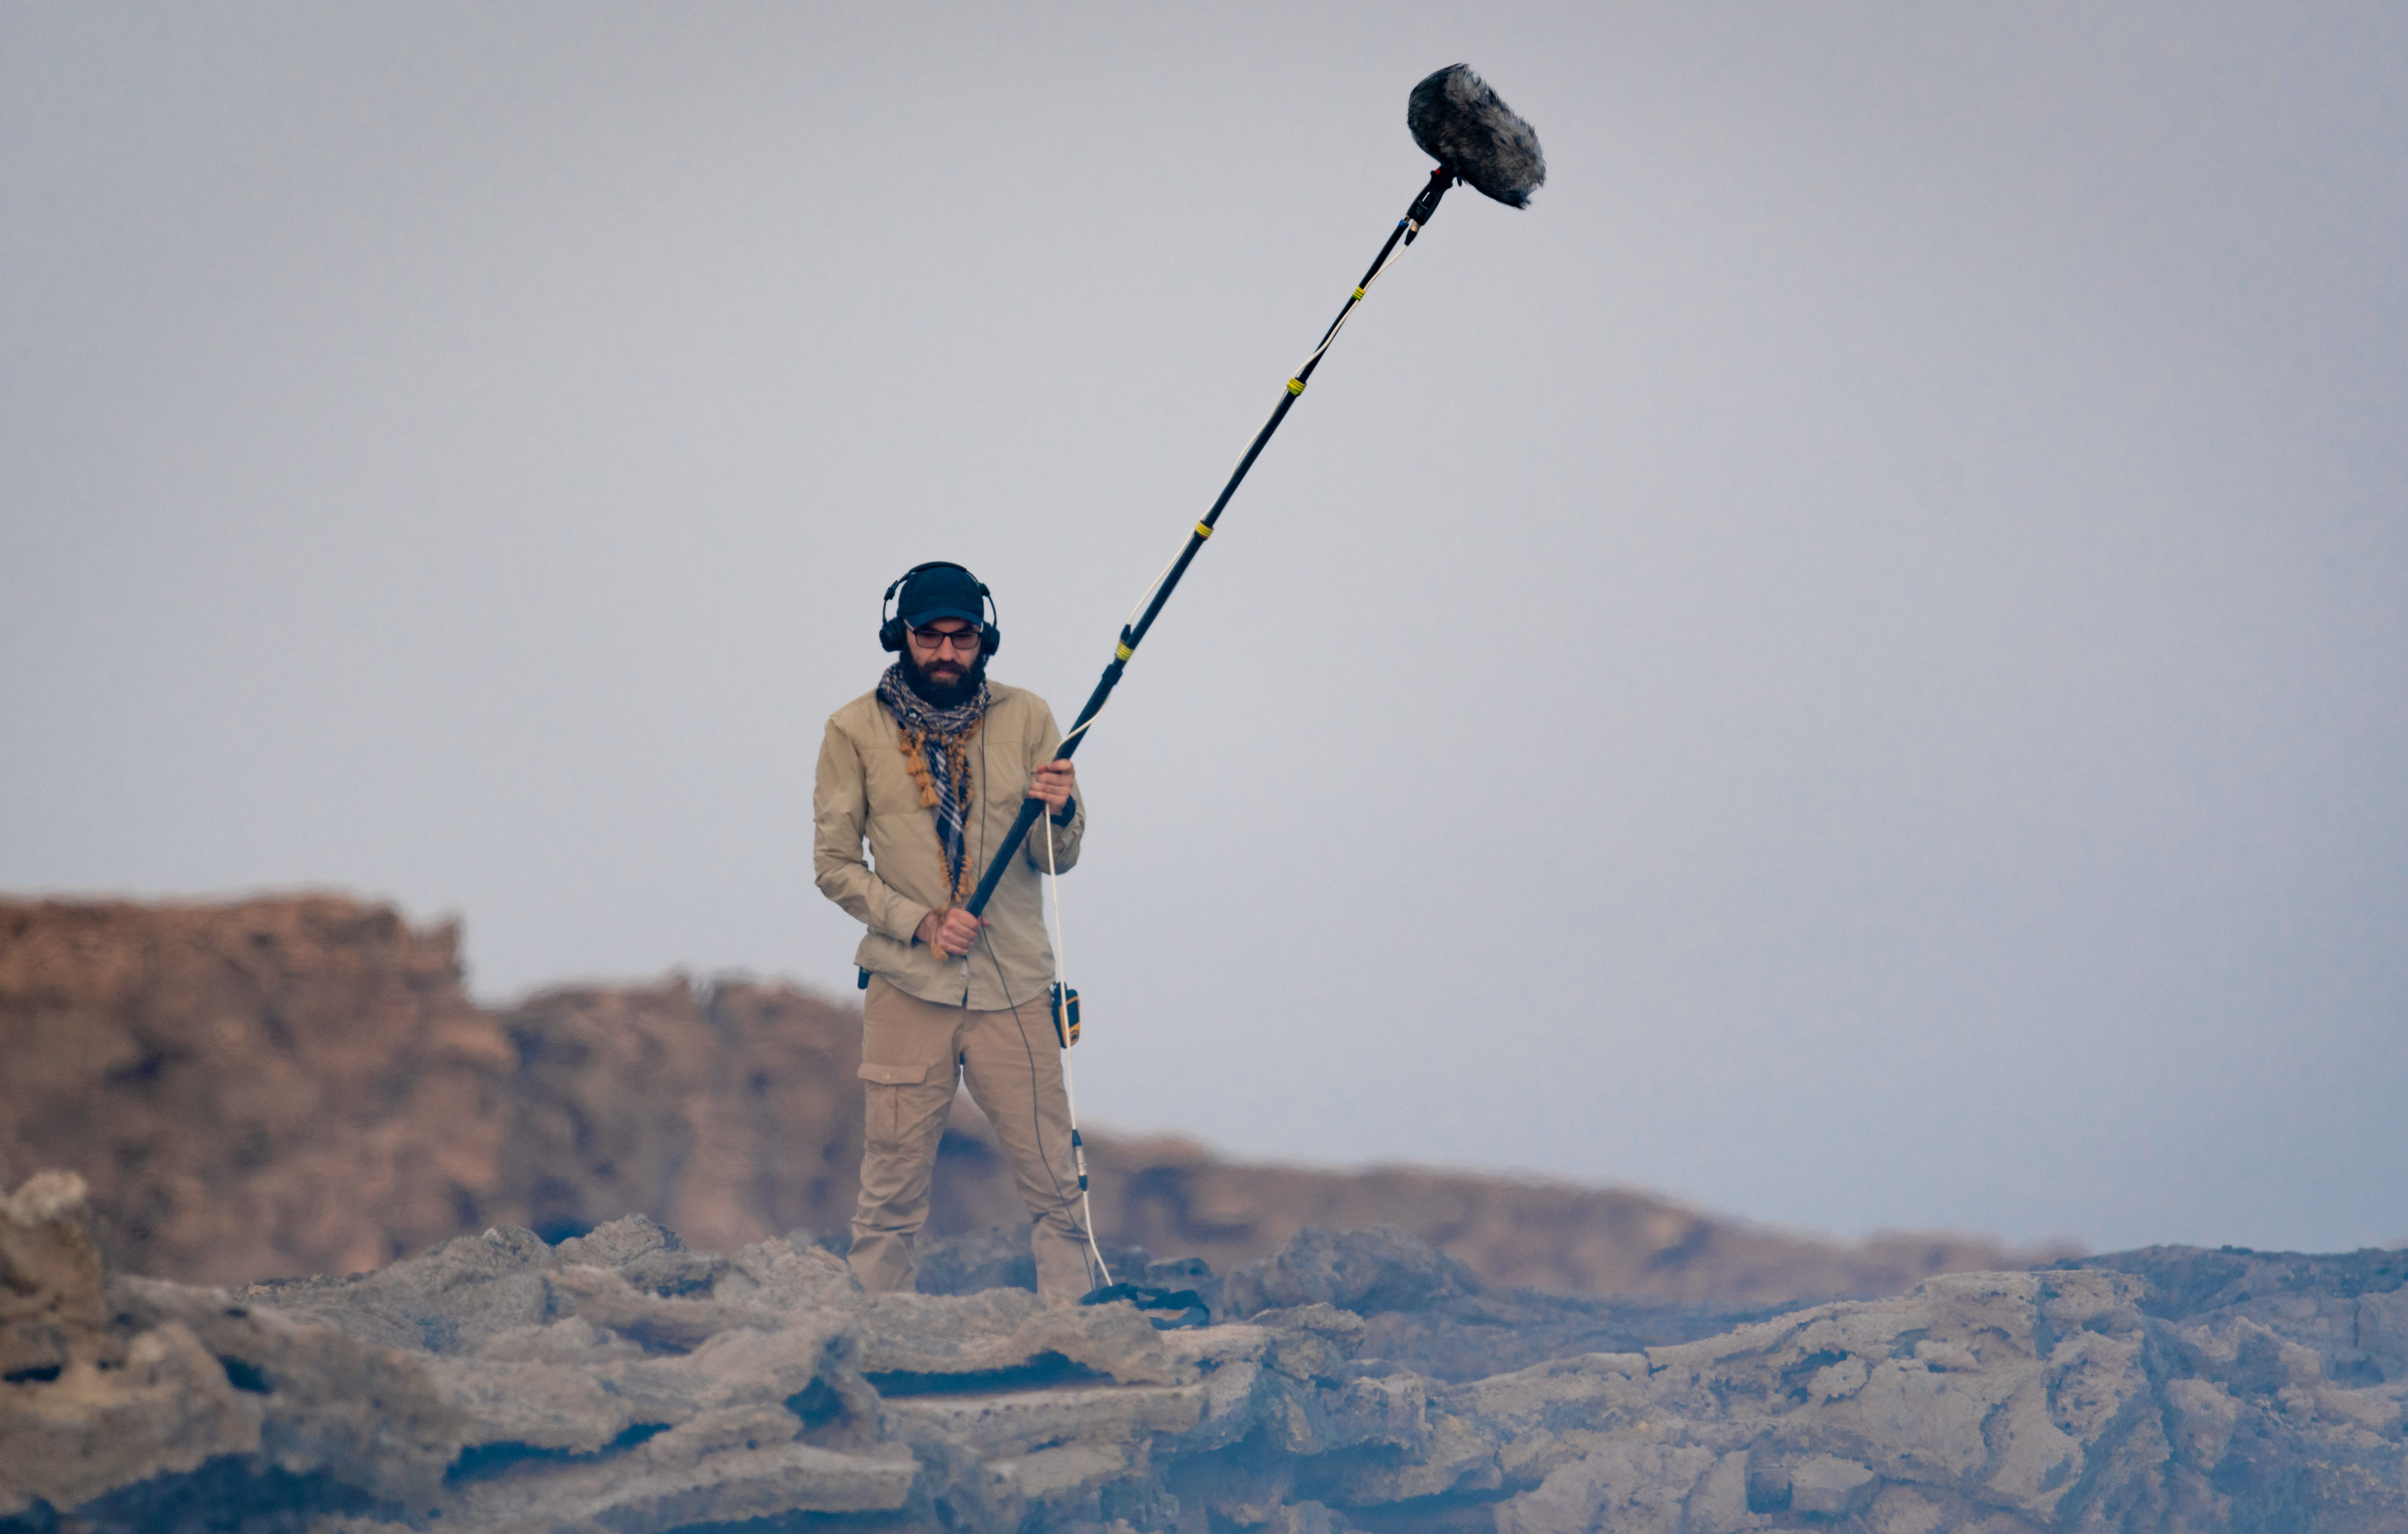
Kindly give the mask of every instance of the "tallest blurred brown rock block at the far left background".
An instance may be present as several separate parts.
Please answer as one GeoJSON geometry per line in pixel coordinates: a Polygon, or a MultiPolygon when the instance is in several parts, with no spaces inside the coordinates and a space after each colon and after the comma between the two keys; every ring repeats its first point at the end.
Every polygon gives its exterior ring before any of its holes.
{"type": "Polygon", "coordinates": [[[335,896],[0,903],[0,1178],[72,1166],[137,1272],[188,1279],[477,1226],[515,1062],[458,942],[335,896]]]}

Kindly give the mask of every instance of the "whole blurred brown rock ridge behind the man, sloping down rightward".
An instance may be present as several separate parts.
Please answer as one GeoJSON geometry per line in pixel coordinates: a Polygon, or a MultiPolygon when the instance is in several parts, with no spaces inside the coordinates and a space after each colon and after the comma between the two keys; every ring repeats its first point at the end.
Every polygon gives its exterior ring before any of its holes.
{"type": "MultiPolygon", "coordinates": [[[[0,1185],[82,1173],[128,1272],[361,1272],[496,1223],[559,1238],[624,1214],[713,1250],[840,1231],[857,1064],[857,1011],[749,980],[489,1011],[460,985],[458,930],[340,896],[0,901],[0,1185]]],[[[929,1228],[1016,1223],[968,1103],[956,1125],[929,1228]]],[[[2037,1257],[1955,1235],[1816,1243],[1613,1187],[1088,1139],[1098,1231],[1218,1269],[1305,1226],[1394,1223],[1486,1284],[1767,1305],[2037,1257]]]]}

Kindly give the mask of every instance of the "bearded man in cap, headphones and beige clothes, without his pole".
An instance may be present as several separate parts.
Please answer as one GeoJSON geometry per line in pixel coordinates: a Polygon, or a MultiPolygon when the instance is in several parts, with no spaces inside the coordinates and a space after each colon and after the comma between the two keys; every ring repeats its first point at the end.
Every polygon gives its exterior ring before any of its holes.
{"type": "Polygon", "coordinates": [[[852,956],[867,987],[852,1272],[869,1291],[913,1286],[958,1074],[1021,1185],[1038,1298],[1067,1305],[1100,1279],[1088,1274],[1052,1031],[1038,881],[1047,826],[1021,843],[985,918],[961,905],[1023,797],[1047,804],[1055,869],[1079,862],[1086,809],[1072,763],[1055,761],[1062,730],[1045,698],[987,682],[1002,641],[987,588],[956,564],[917,566],[898,588],[896,616],[879,626],[898,657],[828,718],[811,792],[819,891],[869,927],[852,956]]]}

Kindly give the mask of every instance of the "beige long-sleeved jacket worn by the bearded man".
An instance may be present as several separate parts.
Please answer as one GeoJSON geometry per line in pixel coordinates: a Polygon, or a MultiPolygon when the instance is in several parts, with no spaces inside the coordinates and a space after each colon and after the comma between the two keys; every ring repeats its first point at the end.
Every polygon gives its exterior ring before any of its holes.
{"type": "MultiPolygon", "coordinates": [[[[985,848],[1002,845],[1038,766],[1062,744],[1045,698],[990,682],[987,718],[970,739],[970,819],[963,840],[973,877],[985,877],[985,848]]],[[[1040,896],[1045,872],[1045,824],[1028,828],[1011,872],[987,901],[982,942],[968,958],[942,961],[913,942],[920,918],[946,905],[951,893],[937,848],[937,816],[920,804],[920,785],[901,749],[903,730],[862,694],[828,715],[811,787],[811,877],[819,893],[845,908],[869,932],[852,963],[922,1002],[995,1011],[1045,995],[1052,985],[1052,944],[1045,939],[1040,896]],[[862,840],[869,857],[862,857],[862,840]]],[[[1086,787],[1072,800],[1067,826],[1052,828],[1055,867],[1079,862],[1086,831],[1086,787]]]]}

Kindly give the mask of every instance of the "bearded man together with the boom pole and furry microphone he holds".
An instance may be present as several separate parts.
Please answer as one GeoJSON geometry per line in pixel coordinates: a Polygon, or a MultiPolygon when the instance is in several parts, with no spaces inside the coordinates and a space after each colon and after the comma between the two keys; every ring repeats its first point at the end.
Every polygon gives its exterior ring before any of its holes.
{"type": "MultiPolygon", "coordinates": [[[[1471,65],[1447,65],[1416,84],[1404,123],[1438,166],[1322,342],[1288,376],[1211,511],[1139,597],[1141,612],[1122,624],[1112,662],[1067,739],[1043,698],[987,684],[987,657],[1002,636],[975,576],[956,564],[917,566],[886,588],[886,597],[903,592],[893,619],[879,602],[879,643],[903,657],[877,691],[828,720],[814,800],[819,889],[869,925],[857,954],[869,992],[862,1007],[869,1122],[862,1204],[852,1216],[852,1269],[869,1288],[913,1284],[910,1238],[927,1221],[929,1170],[958,1069],[995,1122],[1035,1221],[1038,1296],[1064,1303],[1086,1293],[1084,1231],[1072,1214],[1081,1154],[1069,1091],[1060,1057],[1038,1048],[1052,1021],[1052,951],[1038,905],[1045,838],[1031,831],[1050,812],[1052,867],[1076,860],[1086,819],[1072,792],[1072,751],[1380,272],[1411,248],[1447,188],[1462,183],[1507,207],[1529,207],[1546,183],[1536,130],[1471,65]],[[864,836],[874,867],[862,862],[864,836]],[[1021,1072],[1011,1069],[1014,1048],[1021,1072]]],[[[1086,1250],[1096,1257],[1093,1276],[1110,1284],[1103,1250],[1093,1243],[1086,1250]]]]}

